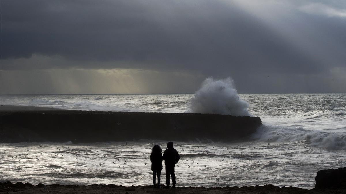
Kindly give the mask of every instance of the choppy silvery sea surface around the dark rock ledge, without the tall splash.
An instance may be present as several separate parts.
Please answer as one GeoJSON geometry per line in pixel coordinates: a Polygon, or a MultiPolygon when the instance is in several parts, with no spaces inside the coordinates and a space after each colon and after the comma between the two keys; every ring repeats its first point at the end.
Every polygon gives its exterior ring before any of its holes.
{"type": "MultiPolygon", "coordinates": [[[[346,94],[239,96],[248,103],[248,112],[261,117],[264,125],[236,142],[174,142],[181,156],[175,168],[177,186],[312,188],[318,170],[346,166],[346,94]]],[[[190,94],[3,95],[0,104],[183,113],[191,110],[192,98],[190,94]]],[[[159,139],[0,143],[0,182],[149,185],[151,148],[158,144],[165,149],[166,143],[159,139]]],[[[164,171],[161,183],[165,184],[164,171]]]]}

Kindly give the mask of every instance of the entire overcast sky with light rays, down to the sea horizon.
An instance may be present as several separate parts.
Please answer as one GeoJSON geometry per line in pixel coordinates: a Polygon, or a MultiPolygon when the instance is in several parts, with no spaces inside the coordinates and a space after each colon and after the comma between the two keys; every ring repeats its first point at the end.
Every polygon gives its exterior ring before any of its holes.
{"type": "Polygon", "coordinates": [[[0,3],[0,94],[346,92],[345,0],[0,3]]]}

